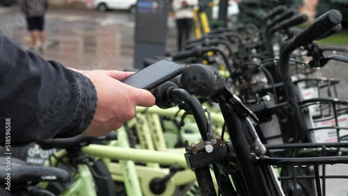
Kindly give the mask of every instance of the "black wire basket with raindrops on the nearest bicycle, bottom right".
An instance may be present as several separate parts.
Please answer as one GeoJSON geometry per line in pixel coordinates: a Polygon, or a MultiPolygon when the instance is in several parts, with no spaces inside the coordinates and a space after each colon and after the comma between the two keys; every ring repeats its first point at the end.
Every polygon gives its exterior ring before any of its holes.
{"type": "MultiPolygon", "coordinates": [[[[327,195],[328,189],[333,189],[326,185],[329,181],[348,179],[348,170],[328,171],[333,165],[348,165],[348,156],[331,156],[337,149],[347,148],[348,143],[294,143],[266,147],[267,156],[260,157],[258,163],[272,165],[278,171],[285,195],[327,195]]],[[[335,188],[348,193],[346,183],[335,184],[335,188]]]]}

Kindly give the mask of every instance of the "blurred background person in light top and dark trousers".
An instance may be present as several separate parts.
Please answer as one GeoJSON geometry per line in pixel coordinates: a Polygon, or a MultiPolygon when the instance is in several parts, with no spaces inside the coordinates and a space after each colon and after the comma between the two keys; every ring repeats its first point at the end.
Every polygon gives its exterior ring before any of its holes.
{"type": "Polygon", "coordinates": [[[198,0],[173,0],[172,8],[177,26],[177,49],[181,51],[190,38],[193,26],[193,10],[198,9],[198,0]]]}

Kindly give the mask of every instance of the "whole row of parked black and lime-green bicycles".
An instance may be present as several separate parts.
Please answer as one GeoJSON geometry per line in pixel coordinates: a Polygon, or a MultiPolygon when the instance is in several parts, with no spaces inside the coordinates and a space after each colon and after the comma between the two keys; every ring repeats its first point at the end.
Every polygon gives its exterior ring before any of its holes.
{"type": "Polygon", "coordinates": [[[348,62],[338,55],[348,49],[315,42],[339,32],[342,15],[292,28],[307,20],[277,6],[258,24],[215,28],[145,59],[187,67],[152,90],[157,106],[108,136],[16,149],[24,160],[12,160],[11,191],[0,195],[334,195],[327,184],[347,194],[348,101],[338,79],[315,77],[348,62]]]}

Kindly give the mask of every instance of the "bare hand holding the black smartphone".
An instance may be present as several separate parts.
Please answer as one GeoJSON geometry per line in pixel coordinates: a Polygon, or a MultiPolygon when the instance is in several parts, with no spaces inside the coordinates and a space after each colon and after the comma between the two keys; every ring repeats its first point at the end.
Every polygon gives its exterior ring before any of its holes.
{"type": "Polygon", "coordinates": [[[133,72],[74,71],[87,76],[97,90],[97,111],[92,123],[84,131],[84,136],[106,136],[119,129],[125,121],[131,120],[135,115],[136,106],[155,105],[155,97],[148,90],[133,88],[120,82],[134,74],[133,72]]]}

